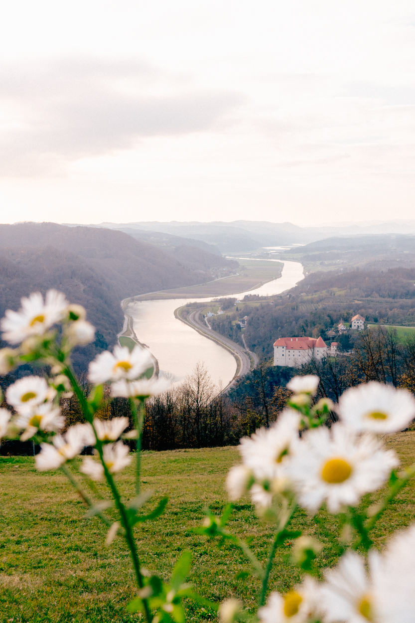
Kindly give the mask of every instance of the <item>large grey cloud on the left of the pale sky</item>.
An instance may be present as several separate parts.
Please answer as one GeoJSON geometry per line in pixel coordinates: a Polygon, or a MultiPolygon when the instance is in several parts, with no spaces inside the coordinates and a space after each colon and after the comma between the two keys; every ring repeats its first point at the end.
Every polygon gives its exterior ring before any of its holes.
{"type": "Polygon", "coordinates": [[[59,174],[149,136],[209,130],[246,101],[140,61],[62,59],[0,71],[2,176],[59,174]]]}

